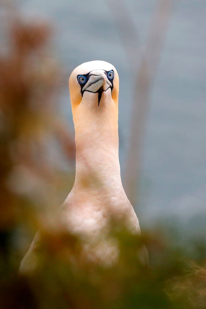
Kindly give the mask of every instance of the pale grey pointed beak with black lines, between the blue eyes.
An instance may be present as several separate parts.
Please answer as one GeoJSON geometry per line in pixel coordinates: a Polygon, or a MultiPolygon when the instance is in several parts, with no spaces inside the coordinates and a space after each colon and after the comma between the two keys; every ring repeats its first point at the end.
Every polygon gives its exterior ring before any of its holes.
{"type": "Polygon", "coordinates": [[[90,72],[89,79],[82,88],[82,94],[84,91],[98,93],[99,106],[103,91],[106,91],[109,87],[112,88],[112,84],[108,80],[106,72],[104,70],[94,70],[90,72]]]}

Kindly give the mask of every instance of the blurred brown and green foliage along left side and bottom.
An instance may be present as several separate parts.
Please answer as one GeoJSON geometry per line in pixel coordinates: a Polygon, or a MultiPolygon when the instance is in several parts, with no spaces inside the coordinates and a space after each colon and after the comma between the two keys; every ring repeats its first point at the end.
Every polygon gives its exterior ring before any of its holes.
{"type": "Polygon", "coordinates": [[[77,236],[50,228],[73,180],[60,164],[74,161],[56,104],[62,75],[48,25],[15,18],[10,26],[10,51],[0,59],[0,308],[205,308],[204,242],[180,244],[162,227],[138,239],[112,222],[119,259],[106,267],[82,258],[77,236]],[[18,275],[38,229],[39,268],[18,275]],[[149,267],[138,259],[142,242],[149,267]]]}

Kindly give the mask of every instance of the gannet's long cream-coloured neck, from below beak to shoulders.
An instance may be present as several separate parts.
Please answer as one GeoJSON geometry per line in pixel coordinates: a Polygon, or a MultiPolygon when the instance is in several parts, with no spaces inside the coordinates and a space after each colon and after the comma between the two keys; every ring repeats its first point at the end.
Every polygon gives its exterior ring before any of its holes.
{"type": "MultiPolygon", "coordinates": [[[[98,94],[97,94],[98,95],[98,94]]],[[[118,108],[109,91],[99,107],[96,95],[85,92],[74,115],[76,142],[75,186],[122,186],[119,164],[118,108]]]]}

